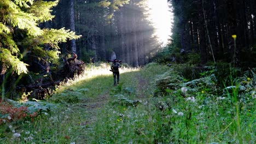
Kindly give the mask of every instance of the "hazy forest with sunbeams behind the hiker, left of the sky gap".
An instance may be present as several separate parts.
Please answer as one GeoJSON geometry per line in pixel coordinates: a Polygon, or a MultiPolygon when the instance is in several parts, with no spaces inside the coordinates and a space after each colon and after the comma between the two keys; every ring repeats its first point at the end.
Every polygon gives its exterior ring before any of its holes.
{"type": "Polygon", "coordinates": [[[56,17],[48,25],[70,28],[83,35],[63,44],[62,53],[75,52],[85,62],[107,61],[115,53],[118,59],[138,67],[146,64],[160,47],[146,14],[146,3],[63,0],[54,9],[56,17]]]}

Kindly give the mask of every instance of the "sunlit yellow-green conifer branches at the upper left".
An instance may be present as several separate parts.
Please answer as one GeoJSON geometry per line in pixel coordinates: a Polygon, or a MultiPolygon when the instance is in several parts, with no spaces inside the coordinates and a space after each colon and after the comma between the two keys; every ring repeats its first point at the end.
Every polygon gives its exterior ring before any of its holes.
{"type": "Polygon", "coordinates": [[[61,29],[40,28],[41,22],[53,19],[51,8],[57,1],[1,0],[0,1],[0,64],[2,73],[15,71],[18,75],[27,73],[28,64],[24,56],[31,53],[45,62],[51,62],[59,55],[61,42],[78,39],[74,32],[61,29]],[[49,48],[45,49],[45,45],[49,48]]]}

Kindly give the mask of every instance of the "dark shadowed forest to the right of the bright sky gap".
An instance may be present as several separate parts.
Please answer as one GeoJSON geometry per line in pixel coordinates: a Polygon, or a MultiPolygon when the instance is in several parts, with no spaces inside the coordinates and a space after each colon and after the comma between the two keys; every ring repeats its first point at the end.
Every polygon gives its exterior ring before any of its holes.
{"type": "Polygon", "coordinates": [[[182,63],[227,62],[255,67],[255,1],[170,2],[174,27],[169,53],[162,53],[165,60],[176,56],[176,61],[182,63]]]}

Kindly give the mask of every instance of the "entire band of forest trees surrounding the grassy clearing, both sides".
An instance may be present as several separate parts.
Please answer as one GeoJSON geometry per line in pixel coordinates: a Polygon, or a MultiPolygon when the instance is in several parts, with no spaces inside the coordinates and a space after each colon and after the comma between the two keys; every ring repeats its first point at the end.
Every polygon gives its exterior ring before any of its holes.
{"type": "Polygon", "coordinates": [[[4,87],[16,95],[15,89],[23,87],[19,83],[55,85],[69,75],[62,68],[76,58],[95,63],[116,57],[132,67],[151,61],[255,67],[255,1],[168,1],[173,34],[164,47],[148,19],[147,2],[1,1],[2,95],[4,87]]]}

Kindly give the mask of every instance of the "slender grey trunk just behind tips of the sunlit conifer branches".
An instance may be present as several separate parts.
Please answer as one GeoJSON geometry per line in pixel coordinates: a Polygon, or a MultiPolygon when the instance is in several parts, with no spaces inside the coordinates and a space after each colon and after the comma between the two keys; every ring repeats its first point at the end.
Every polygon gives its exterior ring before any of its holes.
{"type": "MultiPolygon", "coordinates": [[[[70,0],[70,29],[75,32],[74,0],[70,0]]],[[[71,51],[77,53],[74,39],[71,40],[71,51]]]]}

